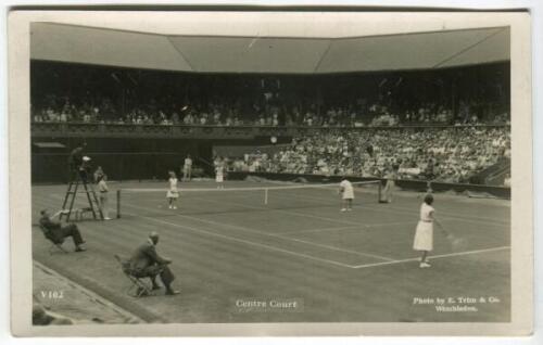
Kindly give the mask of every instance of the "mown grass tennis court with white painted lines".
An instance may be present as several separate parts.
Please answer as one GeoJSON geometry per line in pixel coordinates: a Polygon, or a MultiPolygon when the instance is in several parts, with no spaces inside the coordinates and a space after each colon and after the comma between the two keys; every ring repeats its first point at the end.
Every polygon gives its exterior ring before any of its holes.
{"type": "MultiPolygon", "coordinates": [[[[121,219],[79,221],[85,253],[49,255],[33,227],[34,258],[150,322],[509,321],[509,201],[435,194],[438,218],[465,243],[452,248],[435,231],[432,267],[419,269],[412,245],[420,194],[396,191],[392,204],[378,204],[375,189],[356,189],[354,209],[340,213],[331,188],[270,190],[267,205],[262,191],[228,191],[266,186],[280,184],[227,181],[219,192],[181,192],[179,208],[168,209],[166,182],[110,182],[112,217],[116,189],[164,191],[123,192],[121,219]],[[153,230],[181,294],[135,299],[113,255],[129,256],[153,230]],[[437,297],[495,299],[477,303],[477,311],[413,304],[437,297]],[[280,298],[303,307],[236,307],[280,298]]],[[[41,208],[61,208],[65,189],[33,187],[33,223],[41,208]]],[[[70,239],[64,246],[72,250],[70,239]]]]}

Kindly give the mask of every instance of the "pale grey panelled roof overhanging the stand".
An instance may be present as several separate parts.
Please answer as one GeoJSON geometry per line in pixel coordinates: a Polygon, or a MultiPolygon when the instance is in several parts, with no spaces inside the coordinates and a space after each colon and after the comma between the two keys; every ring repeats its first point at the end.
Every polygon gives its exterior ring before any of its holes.
{"type": "Polygon", "coordinates": [[[509,60],[509,27],[362,37],[199,36],[33,23],[35,60],[200,73],[431,69],[509,60]]]}

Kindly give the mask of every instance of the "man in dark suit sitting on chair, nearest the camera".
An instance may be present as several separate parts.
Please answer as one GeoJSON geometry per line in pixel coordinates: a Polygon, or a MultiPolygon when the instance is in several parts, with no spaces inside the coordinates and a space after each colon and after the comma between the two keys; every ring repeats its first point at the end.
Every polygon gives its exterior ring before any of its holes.
{"type": "Polygon", "coordinates": [[[162,283],[166,288],[166,295],[176,295],[179,292],[172,289],[175,276],[167,266],[172,264],[172,260],[156,253],[155,246],[157,243],[159,234],[153,231],[149,234],[149,239],[134,252],[129,260],[130,273],[137,278],[149,277],[153,284],[153,290],[160,289],[156,284],[156,276],[160,274],[162,283]]]}

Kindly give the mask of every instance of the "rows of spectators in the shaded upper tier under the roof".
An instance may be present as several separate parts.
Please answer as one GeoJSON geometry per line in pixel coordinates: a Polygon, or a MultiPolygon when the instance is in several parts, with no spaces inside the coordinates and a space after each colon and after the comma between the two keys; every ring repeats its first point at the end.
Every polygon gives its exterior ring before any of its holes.
{"type": "Polygon", "coordinates": [[[93,123],[118,125],[186,125],[186,126],[305,126],[305,127],[389,127],[408,125],[508,124],[507,112],[494,112],[479,118],[469,104],[453,111],[435,103],[416,110],[391,111],[378,102],[367,106],[320,106],[316,103],[290,108],[252,104],[242,110],[236,104],[210,103],[205,106],[180,104],[161,107],[153,100],[146,106],[119,112],[112,100],[84,101],[77,104],[60,98],[48,105],[31,108],[35,123],[93,123]],[[124,115],[118,115],[118,114],[124,115]]]}

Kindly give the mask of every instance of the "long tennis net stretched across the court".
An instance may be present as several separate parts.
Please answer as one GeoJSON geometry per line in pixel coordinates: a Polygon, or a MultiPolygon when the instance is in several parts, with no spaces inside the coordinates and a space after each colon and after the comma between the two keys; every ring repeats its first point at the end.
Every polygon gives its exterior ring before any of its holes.
{"type": "MultiPolygon", "coordinates": [[[[379,202],[381,181],[351,183],[354,206],[379,202]]],[[[184,214],[218,214],[341,206],[339,183],[233,186],[236,187],[179,188],[177,209],[184,214]]],[[[166,193],[165,188],[118,189],[117,218],[124,215],[159,217],[171,214],[166,193]]]]}

